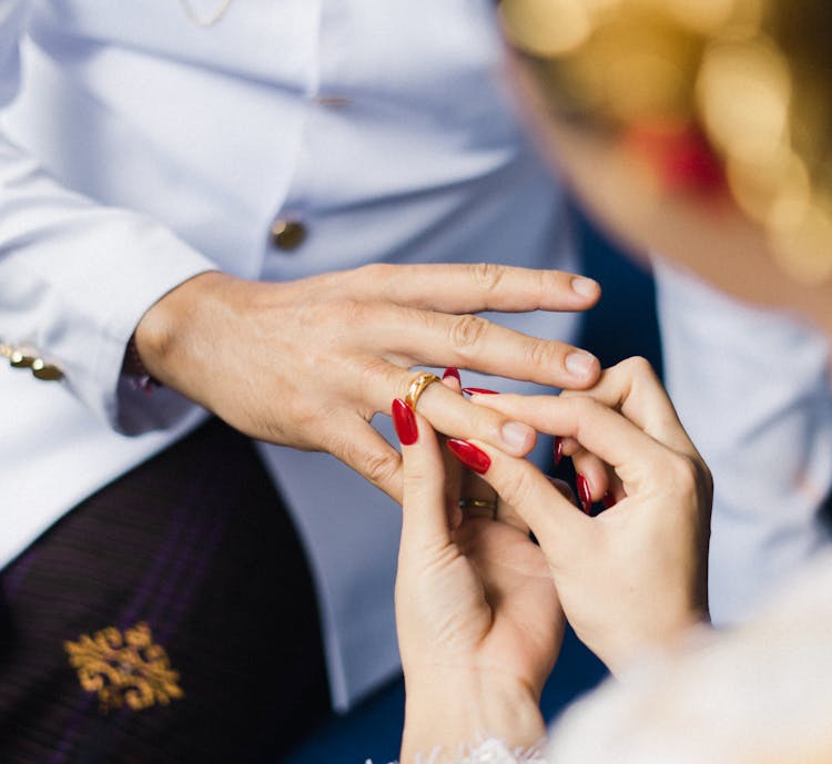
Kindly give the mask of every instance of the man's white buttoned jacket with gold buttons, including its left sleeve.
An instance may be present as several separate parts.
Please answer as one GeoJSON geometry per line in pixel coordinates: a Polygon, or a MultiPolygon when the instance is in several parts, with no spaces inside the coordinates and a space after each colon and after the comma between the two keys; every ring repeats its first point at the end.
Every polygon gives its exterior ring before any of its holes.
{"type": "MultiPolygon", "coordinates": [[[[500,60],[486,0],[232,0],[211,27],[177,0],[0,0],[0,339],[65,373],[48,383],[0,364],[0,564],[204,417],[120,377],[143,313],[190,276],[577,267],[500,60]],[[294,251],[270,238],[281,218],[306,227],[294,251]]],[[[569,339],[577,318],[500,320],[569,339]]],[[[399,510],[332,457],[263,451],[313,567],[345,707],[398,665],[399,510]]]]}

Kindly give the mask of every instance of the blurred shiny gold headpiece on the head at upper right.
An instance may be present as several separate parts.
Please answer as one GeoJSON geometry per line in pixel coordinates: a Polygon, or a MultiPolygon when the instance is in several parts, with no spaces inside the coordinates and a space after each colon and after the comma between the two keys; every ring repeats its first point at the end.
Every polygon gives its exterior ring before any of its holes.
{"type": "Polygon", "coordinates": [[[552,116],[693,131],[783,271],[832,279],[832,3],[501,0],[499,14],[552,116]]]}

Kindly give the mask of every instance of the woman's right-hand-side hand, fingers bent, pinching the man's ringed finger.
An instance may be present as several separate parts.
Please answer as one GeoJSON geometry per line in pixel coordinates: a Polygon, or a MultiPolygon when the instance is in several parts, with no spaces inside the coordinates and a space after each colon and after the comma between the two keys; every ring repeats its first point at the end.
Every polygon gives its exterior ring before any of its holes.
{"type": "Polygon", "coordinates": [[[613,673],[708,621],[710,472],[646,360],[581,394],[475,401],[568,438],[619,481],[618,502],[590,518],[527,460],[474,444],[490,459],[483,477],[538,539],[569,623],[613,673]]]}

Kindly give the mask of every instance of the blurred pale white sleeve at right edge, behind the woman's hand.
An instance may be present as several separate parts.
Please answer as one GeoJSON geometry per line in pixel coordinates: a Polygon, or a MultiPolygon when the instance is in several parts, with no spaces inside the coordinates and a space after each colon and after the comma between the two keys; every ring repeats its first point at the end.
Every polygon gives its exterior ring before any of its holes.
{"type": "Polygon", "coordinates": [[[655,273],[664,381],[714,479],[711,614],[735,622],[829,543],[829,345],[667,263],[655,273]]]}

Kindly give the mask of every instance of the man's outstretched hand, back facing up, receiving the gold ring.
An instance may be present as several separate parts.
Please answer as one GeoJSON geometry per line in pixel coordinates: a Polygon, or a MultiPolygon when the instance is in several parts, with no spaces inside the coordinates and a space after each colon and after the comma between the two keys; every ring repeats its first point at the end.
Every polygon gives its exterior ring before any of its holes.
{"type": "MultiPolygon", "coordinates": [[[[135,346],[162,384],[254,438],[333,454],[396,500],[398,451],[369,421],[402,398],[414,366],[456,366],[556,387],[599,374],[582,350],[528,337],[481,310],[584,310],[592,279],[480,265],[369,265],[286,283],[194,276],[142,317],[135,346]]],[[[422,410],[451,436],[524,456],[534,428],[440,385],[422,410]]]]}

